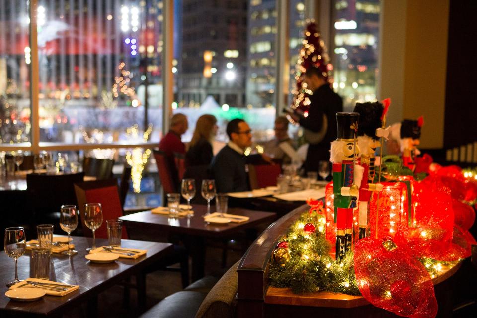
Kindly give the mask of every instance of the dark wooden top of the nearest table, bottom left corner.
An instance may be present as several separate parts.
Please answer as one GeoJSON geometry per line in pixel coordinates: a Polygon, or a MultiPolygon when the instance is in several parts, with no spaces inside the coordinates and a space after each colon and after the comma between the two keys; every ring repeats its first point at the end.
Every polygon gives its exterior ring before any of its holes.
{"type": "MultiPolygon", "coordinates": [[[[50,263],[50,280],[71,285],[79,285],[79,290],[68,295],[58,297],[45,295],[42,299],[33,302],[10,300],[5,296],[8,287],[5,283],[15,278],[15,263],[6,253],[0,255],[0,316],[10,313],[23,313],[37,316],[58,315],[73,306],[96,296],[98,293],[119,283],[144,267],[159,260],[172,250],[172,244],[145,242],[123,239],[121,247],[146,249],[145,256],[138,259],[119,258],[115,262],[97,264],[89,262],[84,256],[86,248],[90,247],[90,238],[73,237],[73,244],[78,251],[71,259],[62,254],[52,254],[53,264],[50,263]],[[53,266],[53,269],[51,268],[53,266]]],[[[107,245],[106,239],[96,239],[96,246],[107,245]]],[[[18,278],[20,280],[31,277],[30,252],[18,258],[18,278]]]]}

